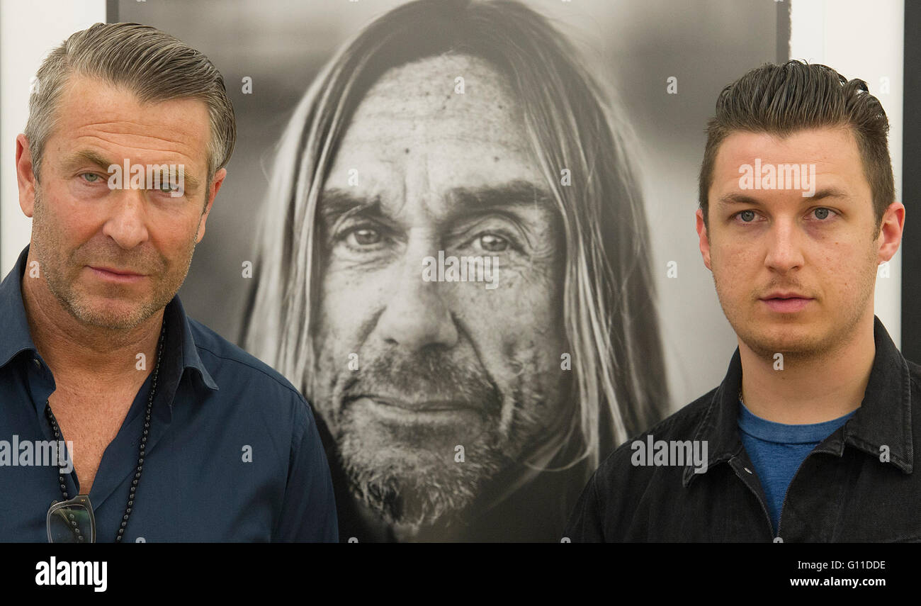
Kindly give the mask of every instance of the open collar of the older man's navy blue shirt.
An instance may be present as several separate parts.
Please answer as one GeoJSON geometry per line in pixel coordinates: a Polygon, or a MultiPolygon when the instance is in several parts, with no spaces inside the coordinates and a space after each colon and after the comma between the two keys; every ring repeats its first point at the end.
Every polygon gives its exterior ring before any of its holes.
{"type": "MultiPolygon", "coordinates": [[[[3,282],[0,282],[0,368],[6,367],[19,353],[23,351],[33,352],[38,355],[35,343],[32,341],[32,335],[29,332],[29,320],[26,316],[26,308],[22,302],[22,277],[26,271],[26,260],[29,256],[29,246],[26,246],[19,253],[16,265],[6,274],[3,282]]],[[[198,348],[195,346],[195,340],[192,337],[192,328],[189,325],[189,318],[185,315],[185,309],[179,296],[175,296],[164,309],[164,316],[169,324],[179,326],[181,329],[181,369],[194,368],[198,371],[204,385],[211,390],[217,390],[215,379],[211,377],[207,368],[202,363],[202,358],[198,355],[198,348]]]]}

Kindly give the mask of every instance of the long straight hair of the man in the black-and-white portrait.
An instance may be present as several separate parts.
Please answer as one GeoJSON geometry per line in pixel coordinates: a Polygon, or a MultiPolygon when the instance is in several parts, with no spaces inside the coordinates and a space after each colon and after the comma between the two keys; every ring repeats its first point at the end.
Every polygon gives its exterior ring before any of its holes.
{"type": "Polygon", "coordinates": [[[519,2],[410,2],[373,21],[323,67],[277,149],[242,342],[310,398],[323,255],[317,209],[338,142],[379,76],[443,53],[482,58],[507,78],[562,217],[574,372],[568,401],[577,409],[562,439],[580,440],[565,465],[588,458],[594,470],[669,404],[646,216],[623,128],[599,85],[564,37],[519,2]],[[568,187],[559,180],[564,168],[568,187]]]}

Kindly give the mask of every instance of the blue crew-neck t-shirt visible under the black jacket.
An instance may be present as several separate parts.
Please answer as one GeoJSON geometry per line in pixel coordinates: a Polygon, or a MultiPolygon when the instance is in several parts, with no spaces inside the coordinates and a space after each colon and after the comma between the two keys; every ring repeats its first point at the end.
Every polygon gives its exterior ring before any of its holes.
{"type": "Polygon", "coordinates": [[[799,465],[807,455],[831,436],[857,411],[822,423],[785,425],[768,421],[739,402],[739,429],[742,446],[752,459],[754,471],[761,480],[767,497],[767,510],[776,533],[780,524],[780,510],[784,506],[787,486],[793,481],[799,465]]]}

